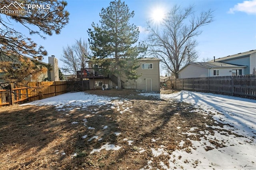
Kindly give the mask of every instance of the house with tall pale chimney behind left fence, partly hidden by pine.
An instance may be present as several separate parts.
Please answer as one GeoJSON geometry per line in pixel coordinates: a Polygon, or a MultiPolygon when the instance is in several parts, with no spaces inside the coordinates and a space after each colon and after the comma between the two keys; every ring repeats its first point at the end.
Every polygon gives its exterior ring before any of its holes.
{"type": "MultiPolygon", "coordinates": [[[[35,60],[33,58],[28,57],[29,59],[31,59],[32,61],[35,60]]],[[[4,54],[3,52],[0,55],[0,62],[9,62],[13,68],[17,69],[19,68],[19,61],[18,59],[15,59],[15,57],[10,58],[9,56],[7,56],[6,54],[4,54]]],[[[32,76],[26,77],[25,80],[26,81],[59,81],[59,72],[58,72],[58,59],[55,58],[54,55],[48,57],[48,62],[49,63],[45,63],[42,61],[38,61],[40,65],[45,66],[46,68],[48,68],[48,65],[50,64],[51,69],[47,71],[47,73],[42,73],[41,75],[38,76],[37,80],[33,80],[32,76]]],[[[3,71],[1,71],[1,69],[4,68],[0,68],[0,82],[4,82],[4,73],[3,71]]]]}

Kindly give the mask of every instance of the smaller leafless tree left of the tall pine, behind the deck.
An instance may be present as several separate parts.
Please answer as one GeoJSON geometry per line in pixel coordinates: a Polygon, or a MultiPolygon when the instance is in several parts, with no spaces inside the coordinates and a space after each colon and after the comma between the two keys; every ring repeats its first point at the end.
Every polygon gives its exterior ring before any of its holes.
{"type": "Polygon", "coordinates": [[[76,40],[72,46],[63,47],[63,55],[60,58],[64,63],[62,70],[75,75],[76,71],[88,66],[88,56],[90,56],[88,43],[81,38],[76,40]]]}

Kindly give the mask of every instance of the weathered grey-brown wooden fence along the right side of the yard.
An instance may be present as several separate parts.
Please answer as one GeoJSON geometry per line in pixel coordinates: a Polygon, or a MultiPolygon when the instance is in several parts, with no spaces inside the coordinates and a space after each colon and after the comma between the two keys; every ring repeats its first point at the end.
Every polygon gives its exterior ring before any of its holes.
{"type": "Polygon", "coordinates": [[[170,79],[173,89],[256,99],[256,75],[170,79]]]}

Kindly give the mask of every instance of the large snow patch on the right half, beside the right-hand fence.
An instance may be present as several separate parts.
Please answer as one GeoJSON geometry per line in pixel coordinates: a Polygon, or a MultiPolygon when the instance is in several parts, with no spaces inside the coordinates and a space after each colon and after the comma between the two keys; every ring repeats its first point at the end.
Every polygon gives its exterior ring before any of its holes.
{"type": "MultiPolygon", "coordinates": [[[[157,96],[157,94],[150,93],[141,93],[141,95],[157,96]]],[[[200,131],[200,134],[204,134],[204,137],[200,138],[200,141],[194,141],[188,138],[196,150],[193,148],[189,152],[187,152],[187,149],[175,150],[170,155],[170,160],[168,160],[170,167],[178,166],[184,169],[256,169],[256,100],[191,91],[161,94],[161,99],[191,103],[194,107],[203,109],[205,111],[204,114],[209,112],[214,113],[213,118],[216,122],[231,125],[225,125],[223,128],[212,127],[216,128],[214,136],[206,130],[200,131]],[[232,130],[232,132],[240,134],[243,137],[227,134],[217,129],[232,130]],[[217,149],[209,142],[211,139],[217,139],[220,141],[220,144],[224,143],[226,146],[221,146],[217,149]],[[211,146],[213,149],[206,151],[203,147],[206,146],[205,144],[211,146]],[[175,159],[178,156],[181,156],[181,158],[175,159]]],[[[193,133],[195,128],[191,128],[188,132],[183,133],[196,135],[193,133]]],[[[183,141],[180,145],[183,145],[183,141]]],[[[155,150],[161,149],[163,147],[152,150],[152,154],[156,155],[155,150]]],[[[163,152],[163,154],[165,153],[163,152]]],[[[151,160],[148,161],[149,169],[152,167],[150,166],[151,162],[151,160]]],[[[163,162],[161,165],[164,169],[167,169],[167,166],[163,162]]]]}

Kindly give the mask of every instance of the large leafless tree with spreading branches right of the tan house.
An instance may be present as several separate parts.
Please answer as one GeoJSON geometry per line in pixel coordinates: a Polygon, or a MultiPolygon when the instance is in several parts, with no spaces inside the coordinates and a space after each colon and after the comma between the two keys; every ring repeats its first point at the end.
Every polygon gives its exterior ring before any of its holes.
{"type": "Polygon", "coordinates": [[[213,21],[212,13],[208,10],[196,17],[194,6],[184,9],[174,6],[160,25],[148,22],[150,53],[162,59],[176,78],[182,66],[197,59],[195,37],[202,33],[202,26],[213,21]]]}

